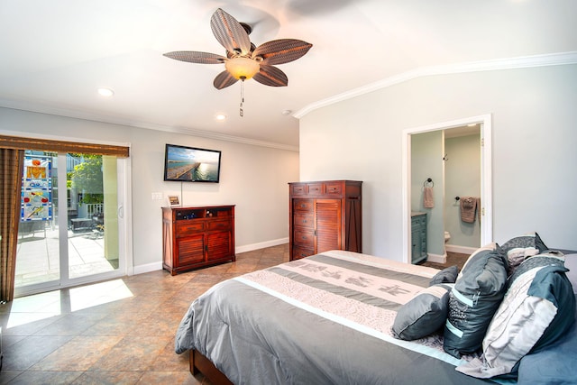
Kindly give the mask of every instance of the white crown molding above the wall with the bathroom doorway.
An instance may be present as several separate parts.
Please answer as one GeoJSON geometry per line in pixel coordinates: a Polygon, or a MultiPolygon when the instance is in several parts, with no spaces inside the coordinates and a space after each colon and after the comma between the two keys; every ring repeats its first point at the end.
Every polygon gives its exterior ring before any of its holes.
{"type": "Polygon", "coordinates": [[[390,87],[415,78],[432,75],[451,75],[464,72],[494,71],[499,69],[526,69],[545,66],[562,66],[577,64],[577,51],[559,52],[545,55],[522,56],[517,58],[469,61],[447,64],[443,66],[423,67],[403,72],[390,78],[384,78],[363,87],[353,88],[341,94],[327,97],[298,110],[293,116],[301,118],[311,111],[327,105],[342,102],[356,96],[362,96],[381,88],[390,87]]]}

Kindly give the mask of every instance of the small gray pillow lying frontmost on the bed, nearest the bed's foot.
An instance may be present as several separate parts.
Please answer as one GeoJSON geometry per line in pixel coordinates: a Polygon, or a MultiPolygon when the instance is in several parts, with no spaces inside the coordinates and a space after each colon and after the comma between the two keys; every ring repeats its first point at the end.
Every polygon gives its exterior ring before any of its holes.
{"type": "Polygon", "coordinates": [[[444,325],[453,285],[429,286],[400,307],[393,323],[393,335],[401,340],[417,340],[435,333],[444,325]]]}

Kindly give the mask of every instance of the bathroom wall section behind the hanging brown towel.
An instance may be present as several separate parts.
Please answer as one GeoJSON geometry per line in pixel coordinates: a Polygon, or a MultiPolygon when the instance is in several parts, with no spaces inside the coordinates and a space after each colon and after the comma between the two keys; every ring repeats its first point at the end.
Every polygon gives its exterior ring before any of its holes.
{"type": "Polygon", "coordinates": [[[445,138],[444,151],[444,230],[451,233],[448,245],[481,246],[479,215],[472,224],[461,220],[459,202],[454,197],[481,197],[481,136],[445,138]]]}

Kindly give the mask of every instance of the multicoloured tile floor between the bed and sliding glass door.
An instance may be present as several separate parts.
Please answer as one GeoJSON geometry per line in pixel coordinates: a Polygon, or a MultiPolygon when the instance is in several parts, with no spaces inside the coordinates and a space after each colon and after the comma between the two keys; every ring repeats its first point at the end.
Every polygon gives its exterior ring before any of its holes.
{"type": "Polygon", "coordinates": [[[0,384],[209,384],[174,353],[188,305],[215,283],[289,261],[289,245],[170,276],[152,271],[0,305],[0,384]]]}

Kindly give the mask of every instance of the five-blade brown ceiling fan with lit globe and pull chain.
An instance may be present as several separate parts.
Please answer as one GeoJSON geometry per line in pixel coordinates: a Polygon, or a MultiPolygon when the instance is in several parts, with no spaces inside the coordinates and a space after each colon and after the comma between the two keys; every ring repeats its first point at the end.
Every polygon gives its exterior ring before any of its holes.
{"type": "MultiPolygon", "coordinates": [[[[250,78],[265,86],[287,86],[289,78],[274,65],[297,60],[313,46],[307,41],[279,39],[267,41],[256,47],[249,38],[249,33],[252,32],[251,26],[239,23],[220,8],[210,18],[210,27],[216,40],[226,49],[226,56],[196,50],[176,50],[167,52],[164,56],[189,63],[224,63],[224,71],[218,74],[213,82],[216,89],[223,89],[238,80],[244,81],[250,78]]],[[[241,116],[243,116],[243,100],[241,116]]]]}

